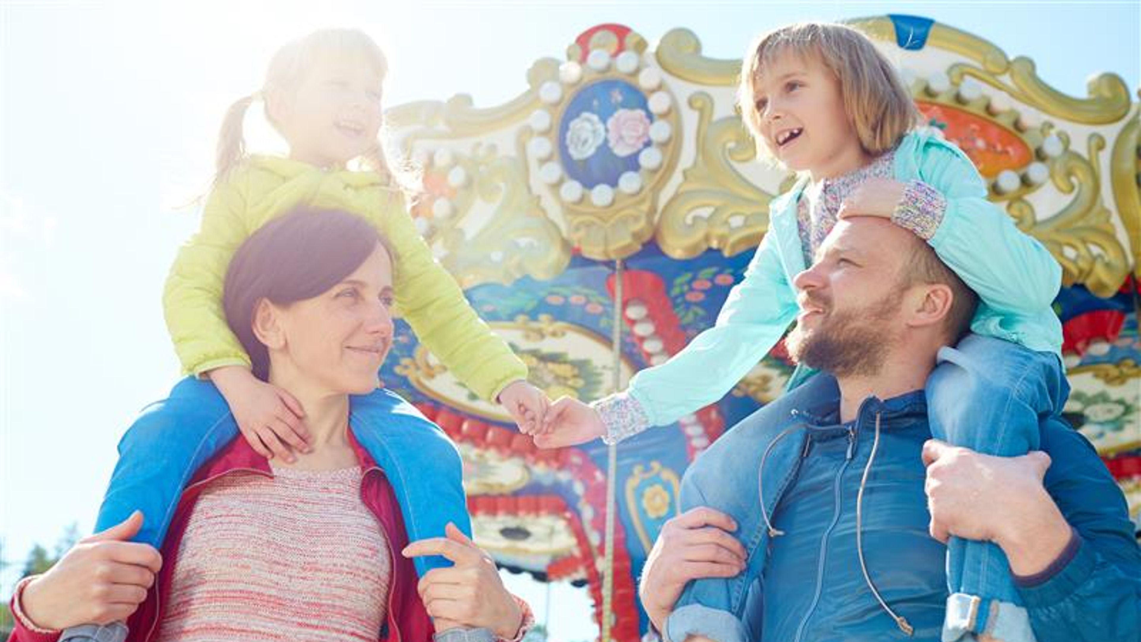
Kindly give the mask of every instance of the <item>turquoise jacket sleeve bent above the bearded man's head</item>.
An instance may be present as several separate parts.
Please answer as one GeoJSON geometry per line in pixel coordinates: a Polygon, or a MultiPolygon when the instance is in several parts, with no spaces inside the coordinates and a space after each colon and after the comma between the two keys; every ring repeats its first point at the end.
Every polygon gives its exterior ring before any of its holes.
{"type": "Polygon", "coordinates": [[[931,139],[919,163],[920,179],[946,199],[929,241],[939,258],[998,312],[1047,310],[1061,287],[1061,265],[987,200],[987,186],[966,154],[931,139]]]}

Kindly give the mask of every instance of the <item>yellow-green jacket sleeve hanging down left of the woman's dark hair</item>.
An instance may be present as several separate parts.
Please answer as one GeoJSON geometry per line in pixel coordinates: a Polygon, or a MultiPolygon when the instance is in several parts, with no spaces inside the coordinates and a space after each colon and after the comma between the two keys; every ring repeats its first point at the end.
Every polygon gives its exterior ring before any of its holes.
{"type": "Polygon", "coordinates": [[[201,228],[179,248],[167,276],[162,307],[185,374],[250,366],[221,305],[226,270],[250,233],[242,217],[246,203],[240,182],[237,175],[211,192],[201,228]]]}

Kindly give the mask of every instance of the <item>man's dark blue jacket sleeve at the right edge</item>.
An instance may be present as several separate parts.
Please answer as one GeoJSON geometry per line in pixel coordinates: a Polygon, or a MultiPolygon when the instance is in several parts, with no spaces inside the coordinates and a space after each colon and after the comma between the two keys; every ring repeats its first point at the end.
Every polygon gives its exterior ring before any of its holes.
{"type": "Polygon", "coordinates": [[[1035,636],[1038,642],[1139,642],[1141,547],[1125,498],[1076,431],[1067,426],[1043,438],[1052,457],[1046,490],[1081,541],[1054,576],[1019,587],[1035,636]]]}

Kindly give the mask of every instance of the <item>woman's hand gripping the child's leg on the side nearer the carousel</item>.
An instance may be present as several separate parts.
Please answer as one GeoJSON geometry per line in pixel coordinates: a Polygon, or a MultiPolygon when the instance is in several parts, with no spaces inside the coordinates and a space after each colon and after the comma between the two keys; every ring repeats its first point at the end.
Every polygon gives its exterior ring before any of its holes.
{"type": "Polygon", "coordinates": [[[420,599],[436,631],[459,626],[488,628],[501,640],[511,640],[523,626],[523,610],[503,587],[495,562],[453,523],[447,537],[408,544],[405,557],[443,555],[455,565],[432,569],[420,579],[420,599]]]}

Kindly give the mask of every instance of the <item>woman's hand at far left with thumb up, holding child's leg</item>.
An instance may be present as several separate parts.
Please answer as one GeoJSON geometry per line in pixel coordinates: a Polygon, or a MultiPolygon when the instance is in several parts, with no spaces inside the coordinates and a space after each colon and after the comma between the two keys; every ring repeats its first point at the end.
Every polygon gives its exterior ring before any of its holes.
{"type": "Polygon", "coordinates": [[[39,628],[126,620],[146,600],[162,568],[154,547],[130,541],[143,527],[136,511],[122,523],[79,540],[48,572],[24,587],[19,604],[39,628]]]}

